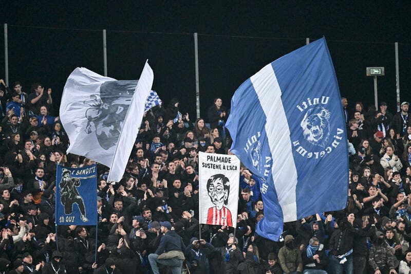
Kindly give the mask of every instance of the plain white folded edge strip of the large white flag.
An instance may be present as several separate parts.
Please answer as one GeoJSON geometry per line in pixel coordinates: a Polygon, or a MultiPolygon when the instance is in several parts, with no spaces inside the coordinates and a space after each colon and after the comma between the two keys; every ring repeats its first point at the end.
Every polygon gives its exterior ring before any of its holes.
{"type": "Polygon", "coordinates": [[[137,83],[136,91],[128,108],[124,119],[124,124],[117,142],[113,161],[110,165],[107,181],[120,181],[126,168],[128,157],[133,149],[138,130],[140,129],[141,120],[143,119],[145,102],[153,85],[153,70],[145,62],[140,79],[137,83]],[[136,121],[139,121],[136,123],[136,121]]]}

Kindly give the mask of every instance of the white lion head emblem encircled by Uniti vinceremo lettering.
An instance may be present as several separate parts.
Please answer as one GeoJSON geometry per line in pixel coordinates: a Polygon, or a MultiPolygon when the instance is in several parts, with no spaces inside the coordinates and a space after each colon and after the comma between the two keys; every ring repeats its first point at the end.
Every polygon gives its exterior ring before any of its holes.
{"type": "Polygon", "coordinates": [[[307,141],[322,148],[325,147],[330,135],[330,116],[328,109],[322,106],[308,109],[300,124],[307,141]]]}

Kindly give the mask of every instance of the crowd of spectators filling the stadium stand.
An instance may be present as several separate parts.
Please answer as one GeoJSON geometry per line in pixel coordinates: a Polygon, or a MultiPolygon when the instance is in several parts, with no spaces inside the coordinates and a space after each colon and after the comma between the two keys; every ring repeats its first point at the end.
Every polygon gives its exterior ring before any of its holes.
{"type": "MultiPolygon", "coordinates": [[[[198,222],[198,152],[230,154],[220,98],[202,118],[172,99],[143,118],[120,182],[98,167],[98,230],[55,228],[57,162],[69,139],[53,116],[52,91],[0,80],[0,273],[410,273],[411,117],[361,102],[348,107],[347,207],[284,225],[281,241],[255,233],[264,211],[259,179],[240,170],[237,229],[198,222]],[[182,112],[182,111],[181,111],[182,112]],[[96,242],[96,233],[97,239],[96,242]],[[95,250],[97,248],[97,262],[95,250]]],[[[326,171],[325,171],[326,172],[326,171]]],[[[313,178],[315,179],[315,178],[313,178]]],[[[332,178],[330,178],[332,184],[332,178]]],[[[312,197],[315,200],[315,197],[312,197]]]]}

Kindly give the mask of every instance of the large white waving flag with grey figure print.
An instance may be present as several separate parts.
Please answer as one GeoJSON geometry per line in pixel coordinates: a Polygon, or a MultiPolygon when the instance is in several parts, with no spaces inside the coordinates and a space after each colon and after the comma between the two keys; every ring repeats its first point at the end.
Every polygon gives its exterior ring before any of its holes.
{"type": "Polygon", "coordinates": [[[138,81],[117,81],[86,68],[74,69],[60,105],[61,120],[70,139],[67,153],[102,163],[110,168],[107,180],[120,181],[153,78],[147,62],[138,81]]]}

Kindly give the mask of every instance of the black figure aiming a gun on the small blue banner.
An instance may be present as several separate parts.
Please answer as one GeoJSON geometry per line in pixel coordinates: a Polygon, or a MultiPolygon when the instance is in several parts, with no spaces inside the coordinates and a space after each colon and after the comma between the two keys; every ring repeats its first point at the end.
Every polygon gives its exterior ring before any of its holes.
{"type": "MultiPolygon", "coordinates": [[[[64,207],[64,213],[66,215],[70,215],[73,212],[73,205],[77,204],[81,213],[81,220],[83,222],[88,222],[83,197],[77,190],[77,187],[80,187],[81,184],[80,178],[71,177],[71,172],[67,169],[63,169],[62,171],[63,173],[59,187],[61,194],[61,204],[64,207]]],[[[85,178],[91,178],[94,176],[95,175],[85,178]]]]}

